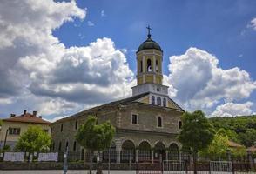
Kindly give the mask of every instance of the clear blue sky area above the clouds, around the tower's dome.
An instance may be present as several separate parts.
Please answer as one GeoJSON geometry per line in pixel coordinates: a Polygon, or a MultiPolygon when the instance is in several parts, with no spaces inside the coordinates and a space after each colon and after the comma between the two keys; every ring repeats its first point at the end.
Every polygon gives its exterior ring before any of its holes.
{"type": "MultiPolygon", "coordinates": [[[[164,64],[169,56],[197,47],[219,57],[223,68],[239,66],[254,79],[256,77],[252,64],[256,32],[246,27],[256,16],[255,1],[89,0],[77,1],[77,6],[87,8],[84,21],[64,23],[54,32],[67,47],[110,37],[118,48],[128,50],[127,60],[134,70],[136,62],[132,50],[137,50],[145,40],[145,27],[150,24],[152,37],[164,50],[164,64]],[[94,26],[88,26],[88,21],[94,26]]],[[[164,67],[167,73],[167,66],[164,67]]]]}

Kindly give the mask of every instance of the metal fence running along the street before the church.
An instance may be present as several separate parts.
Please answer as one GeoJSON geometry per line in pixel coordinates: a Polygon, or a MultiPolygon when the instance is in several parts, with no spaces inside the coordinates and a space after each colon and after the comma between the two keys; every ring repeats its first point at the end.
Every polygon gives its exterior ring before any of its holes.
{"type": "MultiPolygon", "coordinates": [[[[0,156],[0,161],[3,161],[3,153],[0,156]]],[[[23,163],[38,162],[39,153],[25,153],[23,163]],[[31,158],[32,156],[32,158],[31,158]]],[[[79,169],[79,164],[98,164],[102,163],[105,167],[111,163],[111,167],[116,169],[122,168],[125,170],[136,170],[138,173],[190,173],[194,166],[192,163],[192,156],[189,153],[168,153],[169,159],[163,160],[162,157],[152,157],[152,151],[132,151],[123,150],[115,151],[110,149],[102,151],[99,154],[89,151],[70,151],[67,154],[67,161],[69,164],[76,165],[79,169]],[[119,154],[118,154],[119,153],[119,154]],[[137,153],[137,154],[136,154],[137,153]],[[137,155],[137,157],[136,157],[137,155]],[[119,157],[119,159],[118,159],[119,157]],[[119,162],[118,162],[119,160],[119,162]],[[120,167],[121,166],[121,167],[120,167]]],[[[57,162],[49,162],[48,164],[63,164],[64,152],[57,153],[57,162]]],[[[44,165],[44,163],[42,163],[44,165]]],[[[256,173],[256,164],[247,156],[239,158],[227,157],[198,157],[197,169],[199,173],[256,173]]]]}

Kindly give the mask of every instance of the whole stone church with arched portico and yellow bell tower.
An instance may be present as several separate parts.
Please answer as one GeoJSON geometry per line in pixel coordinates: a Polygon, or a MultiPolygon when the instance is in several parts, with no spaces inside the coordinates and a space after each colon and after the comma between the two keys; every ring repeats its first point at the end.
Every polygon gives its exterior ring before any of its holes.
{"type": "MultiPolygon", "coordinates": [[[[160,158],[179,159],[181,144],[177,140],[184,110],[168,97],[168,86],[163,85],[163,50],[152,40],[150,28],[145,42],[136,52],[137,85],[132,97],[103,104],[65,117],[52,124],[52,151],[80,154],[86,150],[77,144],[75,134],[80,124],[90,115],[98,123],[110,120],[116,128],[111,146],[111,161],[116,163],[150,161],[160,158]]],[[[107,158],[105,152],[101,159],[107,158]]]]}

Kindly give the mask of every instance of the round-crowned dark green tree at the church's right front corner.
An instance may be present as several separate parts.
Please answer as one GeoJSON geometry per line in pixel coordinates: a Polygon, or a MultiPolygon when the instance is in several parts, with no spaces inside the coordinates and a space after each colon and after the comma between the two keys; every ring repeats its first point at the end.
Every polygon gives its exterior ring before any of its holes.
{"type": "Polygon", "coordinates": [[[189,147],[193,154],[194,173],[197,173],[197,155],[212,143],[215,131],[205,117],[204,112],[196,110],[192,113],[185,112],[182,117],[182,130],[179,134],[179,142],[189,147]]]}

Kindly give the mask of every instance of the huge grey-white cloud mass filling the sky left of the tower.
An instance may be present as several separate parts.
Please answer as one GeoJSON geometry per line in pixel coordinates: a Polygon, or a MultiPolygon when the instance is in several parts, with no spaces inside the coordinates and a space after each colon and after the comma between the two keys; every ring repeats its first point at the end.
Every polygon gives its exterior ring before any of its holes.
{"type": "Polygon", "coordinates": [[[131,94],[133,73],[111,39],[66,48],[52,35],[85,14],[75,1],[1,3],[0,108],[64,115],[131,94]]]}

